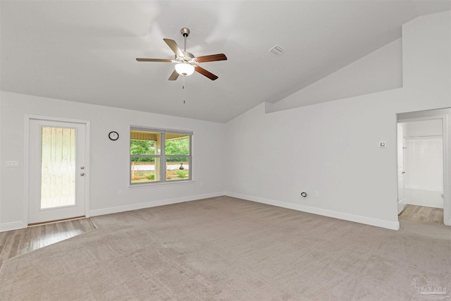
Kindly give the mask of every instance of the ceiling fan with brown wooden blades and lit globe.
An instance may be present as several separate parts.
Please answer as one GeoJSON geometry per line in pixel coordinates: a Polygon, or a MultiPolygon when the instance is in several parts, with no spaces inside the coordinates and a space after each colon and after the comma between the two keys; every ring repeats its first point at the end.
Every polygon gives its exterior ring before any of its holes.
{"type": "Polygon", "coordinates": [[[168,47],[174,51],[175,59],[140,59],[137,58],[137,61],[159,61],[159,62],[166,62],[166,63],[176,63],[175,70],[171,74],[171,76],[168,78],[168,80],[176,80],[178,78],[178,75],[192,75],[194,71],[197,71],[198,73],[206,76],[210,80],[216,80],[218,77],[214,75],[213,73],[205,70],[201,66],[199,66],[199,63],[206,63],[208,61],[226,61],[227,56],[226,54],[211,54],[209,56],[197,56],[195,57],[193,54],[190,54],[190,52],[186,51],[186,39],[188,35],[190,35],[190,30],[186,27],[182,28],[180,30],[180,33],[183,35],[185,39],[185,45],[183,47],[182,51],[180,47],[178,47],[178,44],[173,39],[163,39],[166,44],[168,44],[168,47]]]}

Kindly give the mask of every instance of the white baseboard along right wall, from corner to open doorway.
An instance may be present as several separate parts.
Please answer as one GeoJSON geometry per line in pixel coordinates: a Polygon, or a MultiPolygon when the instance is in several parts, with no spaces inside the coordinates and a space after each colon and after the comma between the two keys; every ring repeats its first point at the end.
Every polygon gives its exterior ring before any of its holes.
{"type": "Polygon", "coordinates": [[[251,197],[249,195],[240,195],[240,194],[234,193],[234,192],[226,192],[226,195],[228,195],[229,197],[237,197],[239,199],[247,199],[248,201],[252,201],[252,202],[259,202],[259,203],[273,205],[273,206],[277,206],[277,207],[283,207],[283,208],[293,209],[293,210],[297,210],[297,211],[304,211],[304,212],[308,212],[311,214],[319,214],[319,215],[323,215],[323,216],[329,216],[329,217],[333,217],[335,219],[344,219],[345,221],[354,221],[356,223],[364,223],[366,225],[387,228],[390,230],[399,230],[400,229],[399,221],[395,222],[395,221],[385,221],[382,219],[373,219],[371,217],[366,217],[366,216],[347,214],[347,213],[343,213],[343,212],[309,207],[309,206],[304,206],[304,205],[300,205],[300,204],[280,202],[280,201],[276,201],[274,199],[264,199],[262,197],[251,197]]]}

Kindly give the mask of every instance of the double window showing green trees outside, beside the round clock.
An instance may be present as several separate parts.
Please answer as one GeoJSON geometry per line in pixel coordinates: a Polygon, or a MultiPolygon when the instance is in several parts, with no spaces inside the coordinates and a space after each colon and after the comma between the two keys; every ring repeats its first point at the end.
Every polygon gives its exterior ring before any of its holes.
{"type": "Polygon", "coordinates": [[[130,184],[191,180],[192,132],[130,128],[130,184]]]}

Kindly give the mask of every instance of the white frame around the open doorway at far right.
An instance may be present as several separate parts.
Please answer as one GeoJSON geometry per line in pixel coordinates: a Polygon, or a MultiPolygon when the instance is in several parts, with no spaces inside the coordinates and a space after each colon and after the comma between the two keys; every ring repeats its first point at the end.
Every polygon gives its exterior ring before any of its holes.
{"type": "MultiPolygon", "coordinates": [[[[432,110],[434,111],[434,110],[432,110]]],[[[397,118],[397,123],[406,123],[412,121],[429,121],[441,119],[443,128],[443,223],[451,226],[451,130],[450,116],[447,114],[429,115],[413,118],[397,118]]],[[[396,133],[397,135],[397,133],[396,133]]]]}

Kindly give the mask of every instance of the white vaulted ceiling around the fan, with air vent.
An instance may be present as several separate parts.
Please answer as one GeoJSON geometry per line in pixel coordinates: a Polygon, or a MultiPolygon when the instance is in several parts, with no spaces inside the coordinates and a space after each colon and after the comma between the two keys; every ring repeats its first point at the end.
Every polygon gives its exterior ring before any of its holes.
{"type": "Polygon", "coordinates": [[[1,1],[3,91],[226,122],[280,99],[394,39],[451,1],[1,1]],[[163,37],[194,56],[224,53],[168,81],[163,37]],[[286,52],[268,52],[274,45],[286,52]],[[185,80],[185,92],[182,89],[185,80]],[[185,93],[185,95],[184,95],[185,93]],[[183,104],[185,99],[186,103],[183,104]]]}

